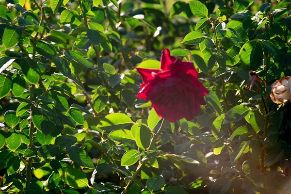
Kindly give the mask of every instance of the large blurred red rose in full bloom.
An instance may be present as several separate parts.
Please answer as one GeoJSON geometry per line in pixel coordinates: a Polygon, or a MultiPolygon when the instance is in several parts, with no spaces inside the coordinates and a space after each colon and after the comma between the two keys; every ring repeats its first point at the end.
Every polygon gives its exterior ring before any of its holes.
{"type": "Polygon", "coordinates": [[[144,83],[138,98],[150,100],[160,117],[170,122],[181,118],[193,119],[205,105],[204,96],[208,90],[198,80],[198,73],[192,62],[185,62],[162,50],[161,69],[136,68],[144,83]]]}

